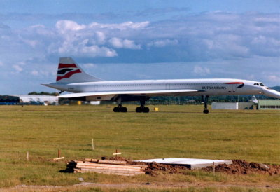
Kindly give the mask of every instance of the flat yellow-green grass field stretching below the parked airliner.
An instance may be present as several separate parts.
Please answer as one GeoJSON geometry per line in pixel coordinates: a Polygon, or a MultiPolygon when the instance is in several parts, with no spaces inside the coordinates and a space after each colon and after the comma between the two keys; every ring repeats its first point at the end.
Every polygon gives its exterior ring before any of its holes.
{"type": "Polygon", "coordinates": [[[277,175],[212,176],[201,171],[158,177],[59,172],[66,168],[65,161],[51,161],[58,149],[66,160],[111,156],[118,149],[133,160],[176,157],[280,164],[280,111],[210,110],[202,114],[202,106],[187,105],[157,106],[160,111],[137,114],[135,107],[128,105],[129,112],[124,114],[113,113],[113,106],[105,105],[1,106],[0,187],[67,186],[79,184],[78,177],[99,183],[280,183],[277,175]]]}

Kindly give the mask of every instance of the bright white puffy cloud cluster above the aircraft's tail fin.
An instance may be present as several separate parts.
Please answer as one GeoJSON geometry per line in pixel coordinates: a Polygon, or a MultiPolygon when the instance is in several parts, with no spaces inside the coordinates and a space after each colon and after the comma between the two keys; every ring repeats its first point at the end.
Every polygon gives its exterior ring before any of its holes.
{"type": "Polygon", "coordinates": [[[113,48],[141,49],[140,45],[130,39],[112,36],[115,30],[140,30],[149,22],[124,22],[120,24],[100,24],[93,22],[89,25],[79,25],[70,20],[60,20],[56,24],[57,43],[51,43],[48,53],[72,55],[79,57],[116,57],[118,53],[113,48]],[[108,36],[108,37],[107,37],[108,36]]]}

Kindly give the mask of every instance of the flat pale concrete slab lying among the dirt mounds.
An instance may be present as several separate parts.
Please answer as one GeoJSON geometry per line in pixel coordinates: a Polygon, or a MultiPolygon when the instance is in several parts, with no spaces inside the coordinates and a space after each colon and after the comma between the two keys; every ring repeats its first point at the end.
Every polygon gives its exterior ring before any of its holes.
{"type": "Polygon", "coordinates": [[[183,165],[191,170],[200,169],[203,167],[208,167],[213,165],[220,164],[232,164],[232,160],[211,160],[211,159],[199,159],[199,158],[155,158],[155,159],[147,159],[147,160],[134,160],[136,162],[146,162],[146,163],[162,163],[167,165],[183,165]]]}

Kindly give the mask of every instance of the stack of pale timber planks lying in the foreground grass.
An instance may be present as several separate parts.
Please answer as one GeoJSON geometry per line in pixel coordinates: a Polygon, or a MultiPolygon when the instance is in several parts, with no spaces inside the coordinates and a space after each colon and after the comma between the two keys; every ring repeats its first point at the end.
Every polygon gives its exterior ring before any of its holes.
{"type": "Polygon", "coordinates": [[[121,160],[97,160],[86,158],[84,161],[73,160],[67,163],[69,172],[98,172],[104,174],[118,174],[133,176],[145,174],[146,165],[127,165],[121,160]]]}

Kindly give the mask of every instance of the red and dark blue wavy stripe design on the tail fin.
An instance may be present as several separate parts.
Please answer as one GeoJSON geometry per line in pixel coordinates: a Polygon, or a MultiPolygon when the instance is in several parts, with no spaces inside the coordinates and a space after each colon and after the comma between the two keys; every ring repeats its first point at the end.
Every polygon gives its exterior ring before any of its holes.
{"type": "Polygon", "coordinates": [[[73,74],[81,73],[76,64],[62,64],[59,63],[57,70],[57,81],[63,78],[70,78],[73,74]]]}

